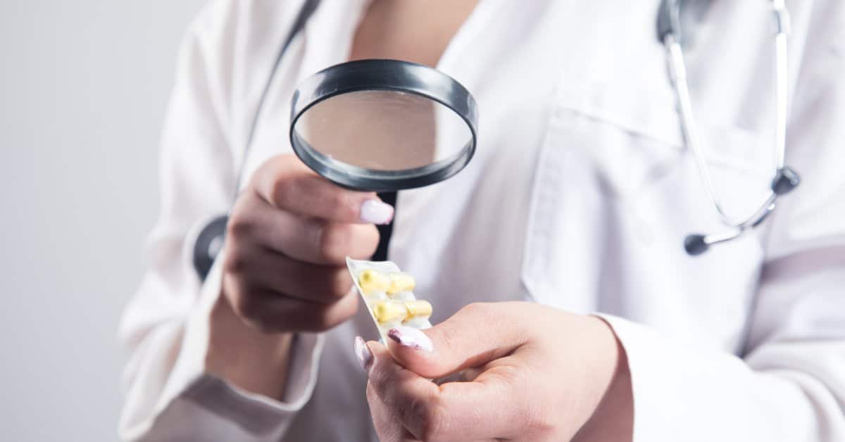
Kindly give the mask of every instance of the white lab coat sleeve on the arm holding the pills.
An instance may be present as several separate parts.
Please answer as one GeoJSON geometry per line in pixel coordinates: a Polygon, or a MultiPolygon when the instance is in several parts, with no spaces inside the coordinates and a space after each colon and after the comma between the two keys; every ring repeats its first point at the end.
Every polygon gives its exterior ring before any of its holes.
{"type": "Polygon", "coordinates": [[[815,2],[804,25],[787,160],[803,183],[764,234],[745,350],[602,315],[628,355],[635,441],[845,440],[845,7],[815,2]]]}

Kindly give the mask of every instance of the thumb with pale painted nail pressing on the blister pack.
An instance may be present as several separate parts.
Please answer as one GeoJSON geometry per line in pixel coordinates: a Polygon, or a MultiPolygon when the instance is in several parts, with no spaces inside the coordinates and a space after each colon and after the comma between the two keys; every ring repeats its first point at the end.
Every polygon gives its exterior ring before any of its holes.
{"type": "Polygon", "coordinates": [[[396,327],[387,336],[396,362],[425,378],[443,378],[504,357],[527,341],[518,303],[473,303],[427,330],[396,327]]]}

